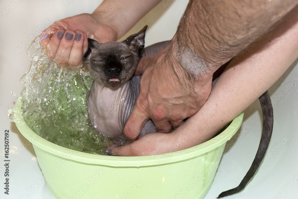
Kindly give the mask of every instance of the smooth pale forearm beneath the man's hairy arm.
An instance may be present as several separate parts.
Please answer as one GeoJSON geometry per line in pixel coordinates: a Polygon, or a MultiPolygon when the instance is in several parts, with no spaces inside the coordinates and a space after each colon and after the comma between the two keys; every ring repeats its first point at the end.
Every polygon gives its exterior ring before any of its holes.
{"type": "Polygon", "coordinates": [[[203,107],[174,131],[179,135],[175,146],[188,148],[212,138],[274,84],[298,57],[297,32],[298,7],[231,61],[203,107]]]}

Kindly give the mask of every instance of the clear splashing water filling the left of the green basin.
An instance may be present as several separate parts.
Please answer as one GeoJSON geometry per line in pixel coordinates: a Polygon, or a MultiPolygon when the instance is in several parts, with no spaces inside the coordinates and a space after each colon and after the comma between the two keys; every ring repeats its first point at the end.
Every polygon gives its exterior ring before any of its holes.
{"type": "Polygon", "coordinates": [[[35,38],[27,49],[31,61],[23,75],[23,117],[42,138],[77,151],[104,155],[110,139],[88,123],[86,96],[93,77],[80,69],[61,67],[45,55],[35,38]]]}

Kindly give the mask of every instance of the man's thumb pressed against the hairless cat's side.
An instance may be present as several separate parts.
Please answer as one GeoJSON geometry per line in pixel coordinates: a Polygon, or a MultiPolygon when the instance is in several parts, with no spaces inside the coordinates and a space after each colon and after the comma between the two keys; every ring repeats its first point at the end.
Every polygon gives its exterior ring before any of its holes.
{"type": "Polygon", "coordinates": [[[137,100],[123,129],[124,135],[131,140],[135,140],[139,136],[146,121],[149,119],[145,113],[145,110],[140,110],[139,107],[140,106],[137,100]]]}

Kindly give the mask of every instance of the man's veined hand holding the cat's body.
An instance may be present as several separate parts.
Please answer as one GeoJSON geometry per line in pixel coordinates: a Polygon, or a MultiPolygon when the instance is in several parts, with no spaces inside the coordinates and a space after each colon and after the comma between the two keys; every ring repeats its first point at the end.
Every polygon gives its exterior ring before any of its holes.
{"type": "Polygon", "coordinates": [[[142,58],[135,74],[142,73],[139,97],[123,130],[133,140],[149,118],[158,132],[179,127],[201,108],[211,92],[212,75],[187,73],[170,46],[142,58]]]}

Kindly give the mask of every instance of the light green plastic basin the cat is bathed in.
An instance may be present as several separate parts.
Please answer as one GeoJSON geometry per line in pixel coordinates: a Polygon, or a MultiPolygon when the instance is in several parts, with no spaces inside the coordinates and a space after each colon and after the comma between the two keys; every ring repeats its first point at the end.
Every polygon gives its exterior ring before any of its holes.
{"type": "MultiPolygon", "coordinates": [[[[38,164],[56,198],[203,198],[215,177],[226,144],[243,112],[219,135],[189,149],[152,156],[115,157],[78,152],[53,144],[25,123],[21,98],[14,122],[33,145],[38,164]]],[[[219,190],[218,194],[224,190],[219,190]]]]}

